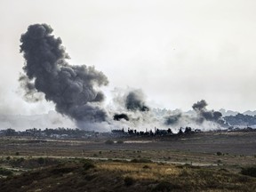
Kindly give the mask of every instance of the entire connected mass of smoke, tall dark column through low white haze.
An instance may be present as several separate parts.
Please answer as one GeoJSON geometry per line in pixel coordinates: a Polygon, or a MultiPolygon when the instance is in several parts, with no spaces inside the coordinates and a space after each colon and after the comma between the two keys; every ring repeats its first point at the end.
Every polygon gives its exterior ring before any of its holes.
{"type": "Polygon", "coordinates": [[[207,110],[205,100],[196,102],[194,115],[182,111],[159,114],[146,104],[141,89],[116,89],[112,104],[102,106],[105,98],[100,86],[108,78],[94,67],[70,65],[60,37],[52,35],[47,24],[35,24],[20,38],[20,52],[25,58],[20,85],[28,101],[48,100],[56,111],[70,117],[80,128],[99,130],[120,128],[180,129],[180,126],[216,127],[225,122],[218,111],[207,110]]]}

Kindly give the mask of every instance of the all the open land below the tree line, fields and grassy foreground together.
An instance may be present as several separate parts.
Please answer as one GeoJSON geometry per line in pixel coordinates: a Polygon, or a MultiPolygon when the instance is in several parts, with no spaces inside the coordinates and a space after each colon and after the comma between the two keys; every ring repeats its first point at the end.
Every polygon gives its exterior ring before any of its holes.
{"type": "Polygon", "coordinates": [[[241,174],[256,166],[255,132],[88,140],[3,137],[0,145],[0,191],[256,190],[256,179],[241,174]]]}

